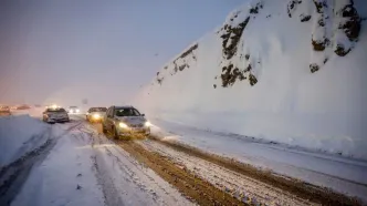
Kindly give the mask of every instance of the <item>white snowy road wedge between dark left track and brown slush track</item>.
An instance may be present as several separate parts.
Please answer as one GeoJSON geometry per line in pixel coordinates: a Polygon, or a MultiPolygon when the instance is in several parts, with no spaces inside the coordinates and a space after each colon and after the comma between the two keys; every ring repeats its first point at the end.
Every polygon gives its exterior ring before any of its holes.
{"type": "Polygon", "coordinates": [[[52,125],[52,136],[55,145],[33,166],[12,205],[191,205],[82,121],[52,125]]]}

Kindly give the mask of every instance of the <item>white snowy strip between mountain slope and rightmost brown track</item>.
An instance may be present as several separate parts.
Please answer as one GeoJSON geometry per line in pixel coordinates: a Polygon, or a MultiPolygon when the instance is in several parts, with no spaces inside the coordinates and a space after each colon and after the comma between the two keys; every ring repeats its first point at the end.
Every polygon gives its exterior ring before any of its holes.
{"type": "Polygon", "coordinates": [[[260,143],[161,120],[150,121],[155,125],[153,133],[162,140],[233,157],[277,174],[358,196],[367,203],[367,163],[364,161],[260,143]]]}

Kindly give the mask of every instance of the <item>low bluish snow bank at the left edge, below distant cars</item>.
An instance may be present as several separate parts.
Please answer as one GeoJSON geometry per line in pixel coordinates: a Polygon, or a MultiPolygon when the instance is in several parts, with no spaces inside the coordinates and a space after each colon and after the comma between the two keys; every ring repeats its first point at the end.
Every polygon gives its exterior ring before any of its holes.
{"type": "Polygon", "coordinates": [[[0,117],[0,167],[42,145],[48,126],[29,115],[0,117]]]}

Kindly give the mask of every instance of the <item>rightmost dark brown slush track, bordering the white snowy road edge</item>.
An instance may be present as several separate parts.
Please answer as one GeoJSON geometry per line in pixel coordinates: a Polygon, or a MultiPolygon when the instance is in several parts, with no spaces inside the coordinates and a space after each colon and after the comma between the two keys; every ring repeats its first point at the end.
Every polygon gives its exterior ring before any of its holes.
{"type": "Polygon", "coordinates": [[[239,162],[234,158],[208,153],[201,151],[200,148],[177,141],[164,141],[160,136],[156,135],[150,135],[149,138],[162,145],[169,146],[178,152],[187,153],[189,155],[222,166],[227,169],[258,179],[275,188],[290,192],[291,194],[294,194],[303,199],[308,199],[310,202],[318,203],[322,205],[361,205],[361,200],[359,198],[347,197],[346,195],[336,193],[327,187],[312,185],[300,179],[275,174],[271,171],[262,171],[250,164],[239,162]]]}

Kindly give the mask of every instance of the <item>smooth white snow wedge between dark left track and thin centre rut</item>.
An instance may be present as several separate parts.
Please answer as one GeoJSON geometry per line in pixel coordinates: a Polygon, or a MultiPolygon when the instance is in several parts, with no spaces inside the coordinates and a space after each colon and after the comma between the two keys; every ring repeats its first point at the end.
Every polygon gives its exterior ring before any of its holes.
{"type": "Polygon", "coordinates": [[[34,166],[12,205],[104,205],[92,169],[93,151],[77,150],[74,131],[62,136],[67,127],[70,124],[54,125],[53,136],[60,140],[48,157],[34,166]]]}

